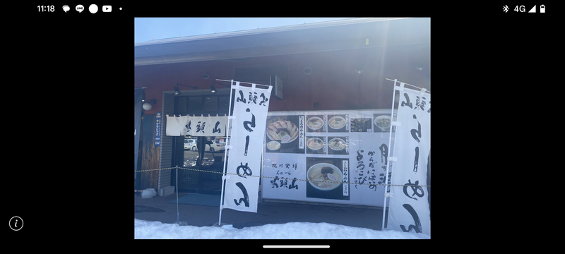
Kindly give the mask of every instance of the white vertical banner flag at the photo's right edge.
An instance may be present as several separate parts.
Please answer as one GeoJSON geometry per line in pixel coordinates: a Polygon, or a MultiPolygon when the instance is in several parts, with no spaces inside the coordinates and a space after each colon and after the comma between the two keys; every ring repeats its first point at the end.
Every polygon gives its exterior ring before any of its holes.
{"type": "MultiPolygon", "coordinates": [[[[403,87],[403,85],[401,85],[403,87]]],[[[391,177],[388,229],[430,235],[427,171],[430,155],[430,99],[425,90],[400,90],[391,177]]]]}

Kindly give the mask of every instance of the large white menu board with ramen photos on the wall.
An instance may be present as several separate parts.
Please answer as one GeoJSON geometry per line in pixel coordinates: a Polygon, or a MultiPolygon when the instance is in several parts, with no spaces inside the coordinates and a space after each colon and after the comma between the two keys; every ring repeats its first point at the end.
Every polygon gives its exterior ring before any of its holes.
{"type": "MultiPolygon", "coordinates": [[[[278,135],[280,140],[265,135],[261,195],[382,206],[385,186],[381,184],[390,183],[385,176],[389,135],[375,131],[374,118],[387,114],[391,109],[268,112],[266,132],[274,136],[289,131],[290,138],[283,141],[285,133],[278,135]],[[297,130],[304,132],[301,149],[294,125],[302,122],[297,130]]],[[[388,170],[390,176],[392,168],[388,170]]]]}

